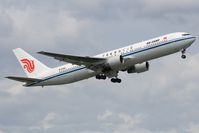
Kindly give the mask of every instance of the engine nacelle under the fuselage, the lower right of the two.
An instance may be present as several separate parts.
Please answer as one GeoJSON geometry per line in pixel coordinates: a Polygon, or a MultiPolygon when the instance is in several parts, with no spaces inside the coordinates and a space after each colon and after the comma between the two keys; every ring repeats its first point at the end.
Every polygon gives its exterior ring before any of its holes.
{"type": "Polygon", "coordinates": [[[141,73],[149,70],[149,63],[143,62],[140,64],[136,64],[133,67],[127,70],[128,73],[141,73]]]}

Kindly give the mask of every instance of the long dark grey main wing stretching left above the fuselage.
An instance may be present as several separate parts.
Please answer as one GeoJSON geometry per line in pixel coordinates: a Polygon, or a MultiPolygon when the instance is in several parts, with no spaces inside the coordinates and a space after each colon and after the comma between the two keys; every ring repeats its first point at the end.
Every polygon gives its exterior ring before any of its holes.
{"type": "Polygon", "coordinates": [[[97,58],[97,57],[83,57],[83,56],[73,56],[73,55],[65,55],[65,54],[57,54],[57,53],[50,53],[50,52],[38,52],[39,54],[54,57],[59,61],[64,61],[68,63],[72,63],[75,65],[84,65],[87,68],[96,71],[97,66],[103,64],[106,61],[106,58],[97,58]]]}

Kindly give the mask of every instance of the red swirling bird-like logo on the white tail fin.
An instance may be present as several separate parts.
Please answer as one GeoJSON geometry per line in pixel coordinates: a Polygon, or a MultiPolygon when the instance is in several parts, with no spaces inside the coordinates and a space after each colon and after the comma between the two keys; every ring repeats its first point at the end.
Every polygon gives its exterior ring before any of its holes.
{"type": "Polygon", "coordinates": [[[35,69],[35,64],[33,60],[22,59],[23,68],[26,69],[29,73],[32,73],[35,69]]]}

